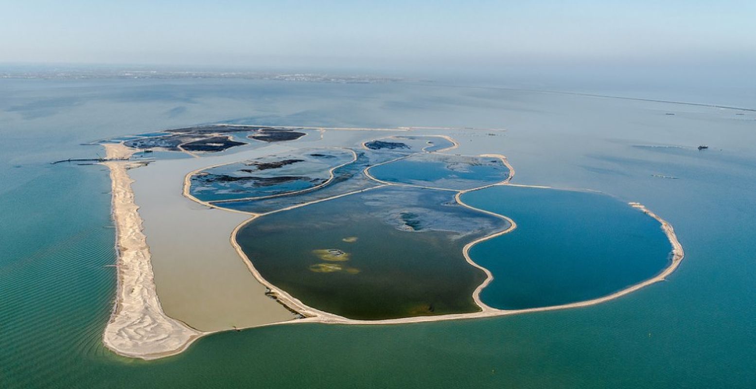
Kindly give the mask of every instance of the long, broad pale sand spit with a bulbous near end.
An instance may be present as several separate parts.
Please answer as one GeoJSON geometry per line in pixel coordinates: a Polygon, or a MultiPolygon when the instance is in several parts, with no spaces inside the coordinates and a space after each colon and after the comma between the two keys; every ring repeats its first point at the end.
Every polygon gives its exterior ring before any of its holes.
{"type": "MultiPolygon", "coordinates": [[[[110,159],[128,158],[134,152],[122,144],[105,145],[105,149],[110,159]]],[[[139,165],[125,160],[103,164],[110,169],[118,252],[116,303],[105,328],[104,344],[122,356],[142,359],[180,353],[203,332],[169,318],[160,307],[150,249],[134,203],[132,179],[126,171],[139,165]]]]}

